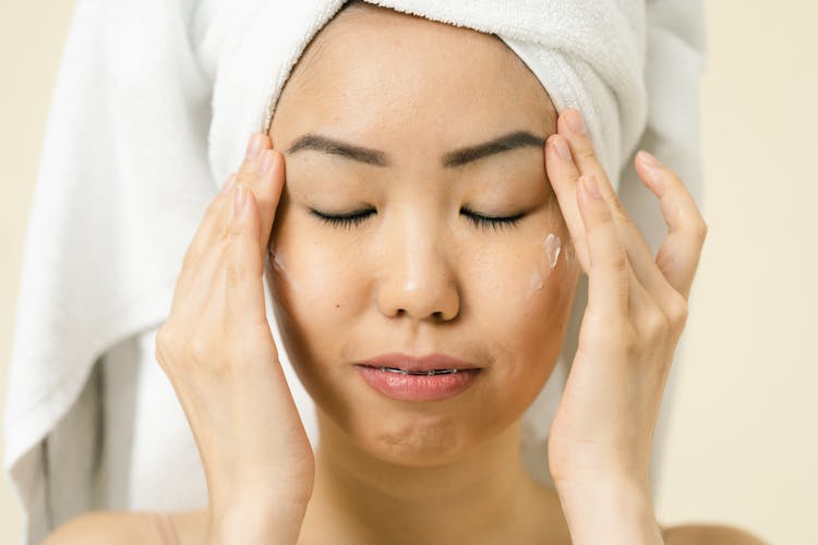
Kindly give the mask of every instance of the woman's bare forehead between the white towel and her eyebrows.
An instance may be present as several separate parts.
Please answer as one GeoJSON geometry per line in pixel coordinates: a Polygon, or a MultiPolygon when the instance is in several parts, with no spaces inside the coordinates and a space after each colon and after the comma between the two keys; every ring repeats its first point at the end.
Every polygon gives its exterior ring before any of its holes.
{"type": "Polygon", "coordinates": [[[496,36],[366,7],[341,12],[310,44],[273,130],[425,130],[462,143],[509,128],[553,132],[554,122],[540,82],[496,36]]]}

